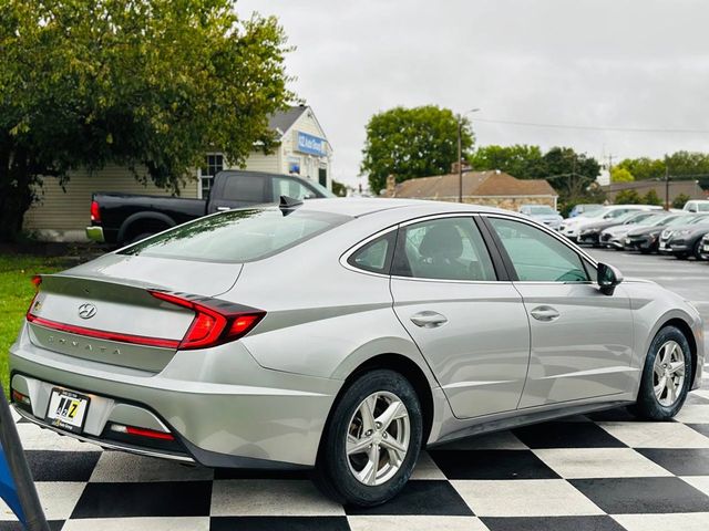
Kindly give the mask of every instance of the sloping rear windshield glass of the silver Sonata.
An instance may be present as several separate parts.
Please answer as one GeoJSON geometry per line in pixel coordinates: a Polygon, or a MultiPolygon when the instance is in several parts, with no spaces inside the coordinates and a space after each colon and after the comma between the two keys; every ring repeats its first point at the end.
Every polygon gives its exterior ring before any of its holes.
{"type": "Polygon", "coordinates": [[[320,235],[351,218],[278,208],[230,210],[181,225],[119,251],[120,254],[205,262],[253,262],[320,235]]]}

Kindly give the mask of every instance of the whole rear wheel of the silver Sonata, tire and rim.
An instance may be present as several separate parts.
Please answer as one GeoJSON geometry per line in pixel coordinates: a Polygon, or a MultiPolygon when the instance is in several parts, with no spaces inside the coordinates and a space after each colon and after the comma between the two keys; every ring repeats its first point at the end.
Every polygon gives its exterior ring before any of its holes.
{"type": "Polygon", "coordinates": [[[333,407],[315,482],[341,503],[383,503],[409,480],[422,433],[421,405],[409,381],[388,369],[363,373],[333,407]]]}

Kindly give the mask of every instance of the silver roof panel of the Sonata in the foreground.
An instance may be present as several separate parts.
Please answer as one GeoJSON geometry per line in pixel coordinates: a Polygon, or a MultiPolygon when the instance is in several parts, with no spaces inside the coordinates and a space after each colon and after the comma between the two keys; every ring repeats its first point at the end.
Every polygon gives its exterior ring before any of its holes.
{"type": "Polygon", "coordinates": [[[321,212],[340,214],[359,218],[370,214],[381,212],[392,209],[417,209],[421,207],[430,207],[442,212],[504,212],[511,214],[510,210],[501,208],[484,207],[467,202],[451,201],[430,201],[423,199],[397,199],[397,198],[376,198],[376,197],[340,197],[340,198],[322,198],[307,199],[299,208],[304,210],[314,210],[321,212]]]}

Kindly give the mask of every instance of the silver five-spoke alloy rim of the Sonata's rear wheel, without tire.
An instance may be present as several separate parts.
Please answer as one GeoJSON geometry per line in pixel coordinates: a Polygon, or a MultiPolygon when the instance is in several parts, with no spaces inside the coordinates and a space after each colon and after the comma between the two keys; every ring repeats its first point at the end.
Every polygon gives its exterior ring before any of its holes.
{"type": "Polygon", "coordinates": [[[401,468],[410,436],[411,421],[403,402],[393,393],[372,393],[357,407],[348,426],[350,471],[363,485],[386,483],[401,468]]]}

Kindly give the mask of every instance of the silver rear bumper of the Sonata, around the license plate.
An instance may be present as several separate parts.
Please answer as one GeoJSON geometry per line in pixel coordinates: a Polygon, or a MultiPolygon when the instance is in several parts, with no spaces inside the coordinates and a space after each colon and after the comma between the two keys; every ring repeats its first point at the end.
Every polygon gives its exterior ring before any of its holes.
{"type": "Polygon", "coordinates": [[[239,342],[178,351],[158,374],[78,358],[39,347],[24,327],[10,351],[16,405],[43,427],[51,389],[88,394],[83,430],[61,430],[109,448],[207,467],[302,468],[315,465],[320,435],[342,382],[266,369],[239,342]],[[178,449],[107,438],[112,423],[167,430],[178,449]]]}

